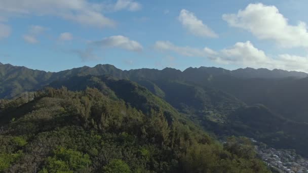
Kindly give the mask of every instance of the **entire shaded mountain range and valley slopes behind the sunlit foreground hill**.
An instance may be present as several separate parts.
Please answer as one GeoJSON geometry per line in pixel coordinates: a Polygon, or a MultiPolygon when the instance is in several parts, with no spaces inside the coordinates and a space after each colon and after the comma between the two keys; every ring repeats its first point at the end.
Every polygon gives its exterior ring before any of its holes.
{"type": "Polygon", "coordinates": [[[304,72],[264,68],[121,70],[108,64],[45,72],[5,64],[0,65],[0,98],[45,86],[65,86],[71,91],[91,87],[149,111],[135,104],[140,98],[134,92],[122,93],[132,81],[213,135],[246,136],[308,156],[308,134],[304,133],[308,130],[307,76],[304,72]]]}

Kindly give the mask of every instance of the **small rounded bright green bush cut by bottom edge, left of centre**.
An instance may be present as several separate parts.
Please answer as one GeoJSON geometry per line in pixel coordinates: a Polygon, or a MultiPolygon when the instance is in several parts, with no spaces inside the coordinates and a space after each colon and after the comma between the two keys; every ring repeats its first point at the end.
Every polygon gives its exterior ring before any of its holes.
{"type": "Polygon", "coordinates": [[[106,173],[130,173],[130,167],[127,163],[121,159],[112,160],[106,166],[103,167],[103,172],[106,173]]]}

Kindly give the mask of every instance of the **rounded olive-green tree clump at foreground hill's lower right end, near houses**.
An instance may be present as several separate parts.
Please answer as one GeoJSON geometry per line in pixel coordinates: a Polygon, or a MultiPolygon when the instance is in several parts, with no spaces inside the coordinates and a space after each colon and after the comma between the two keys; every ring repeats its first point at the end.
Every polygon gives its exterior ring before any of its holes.
{"type": "Polygon", "coordinates": [[[191,146],[182,157],[183,168],[186,172],[270,172],[255,156],[246,156],[242,153],[245,151],[236,150],[240,151],[241,155],[234,153],[232,155],[228,151],[222,150],[219,145],[197,144],[191,146]]]}

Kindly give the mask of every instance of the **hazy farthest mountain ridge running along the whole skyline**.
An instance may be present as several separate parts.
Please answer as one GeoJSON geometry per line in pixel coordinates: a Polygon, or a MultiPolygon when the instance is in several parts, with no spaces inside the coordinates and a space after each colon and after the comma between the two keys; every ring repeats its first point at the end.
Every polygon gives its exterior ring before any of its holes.
{"type": "Polygon", "coordinates": [[[60,72],[45,72],[32,70],[26,67],[0,64],[0,98],[13,97],[24,91],[40,89],[42,86],[59,79],[82,75],[110,75],[117,78],[148,78],[148,79],[172,79],[202,81],[210,80],[213,76],[228,75],[240,78],[284,78],[307,77],[307,73],[245,68],[238,70],[226,70],[216,67],[187,68],[183,72],[173,68],[121,70],[113,65],[99,64],[95,67],[80,67],[60,72]]]}

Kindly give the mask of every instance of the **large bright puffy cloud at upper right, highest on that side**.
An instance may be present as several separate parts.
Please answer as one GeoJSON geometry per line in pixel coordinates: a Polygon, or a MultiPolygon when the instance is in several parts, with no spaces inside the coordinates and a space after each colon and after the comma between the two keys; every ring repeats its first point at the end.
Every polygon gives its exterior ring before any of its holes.
{"type": "Polygon", "coordinates": [[[230,26],[248,30],[258,39],[274,40],[281,47],[308,47],[308,31],[304,22],[290,25],[275,6],[249,4],[237,14],[224,14],[230,26]]]}

